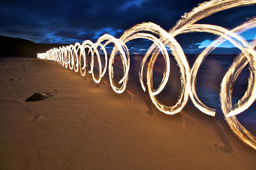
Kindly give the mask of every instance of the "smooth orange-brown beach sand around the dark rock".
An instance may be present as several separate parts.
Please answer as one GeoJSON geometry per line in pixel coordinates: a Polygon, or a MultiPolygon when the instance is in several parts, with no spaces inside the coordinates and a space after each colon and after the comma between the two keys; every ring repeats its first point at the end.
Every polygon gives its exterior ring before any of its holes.
{"type": "Polygon", "coordinates": [[[0,169],[255,169],[256,151],[228,128],[231,154],[214,147],[209,123],[183,130],[180,114],[147,114],[91,75],[32,58],[0,64],[0,169]],[[52,97],[25,102],[36,92],[52,97]]]}

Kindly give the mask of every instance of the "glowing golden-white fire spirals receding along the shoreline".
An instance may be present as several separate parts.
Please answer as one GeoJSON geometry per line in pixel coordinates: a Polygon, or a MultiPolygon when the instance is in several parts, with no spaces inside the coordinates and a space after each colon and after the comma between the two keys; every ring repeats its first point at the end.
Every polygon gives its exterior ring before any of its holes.
{"type": "Polygon", "coordinates": [[[125,31],[119,39],[111,35],[105,34],[99,37],[96,43],[93,43],[90,40],[86,40],[82,44],[75,43],[74,45],[69,45],[66,47],[63,46],[59,48],[53,48],[47,51],[46,53],[38,54],[37,57],[41,59],[54,60],[62,66],[65,66],[66,68],[69,67],[70,69],[74,69],[76,72],[80,70],[81,75],[85,76],[86,57],[89,57],[89,55],[85,52],[87,49],[90,52],[90,54],[92,54],[90,66],[91,69],[88,72],[92,74],[93,80],[96,83],[99,83],[101,81],[101,78],[104,76],[109,63],[108,68],[110,84],[115,92],[122,93],[127,85],[128,73],[130,68],[129,50],[125,43],[137,38],[151,40],[153,43],[146,52],[146,54],[144,55],[144,58],[141,62],[139,80],[143,90],[145,91],[147,88],[154,105],[160,111],[166,114],[175,114],[180,112],[185,107],[188,98],[190,97],[191,101],[193,101],[193,103],[199,110],[208,115],[215,116],[215,109],[209,108],[206,105],[204,105],[197,96],[197,74],[199,67],[201,63],[204,61],[205,57],[211,51],[213,51],[218,45],[228,40],[234,46],[239,48],[241,50],[241,53],[233,61],[233,64],[226,72],[226,75],[224,76],[223,81],[221,83],[221,108],[226,117],[227,123],[229,124],[233,132],[236,133],[245,143],[250,145],[252,148],[256,149],[256,138],[250,132],[248,132],[238,122],[236,118],[236,115],[246,110],[254,102],[256,98],[256,40],[254,39],[251,43],[248,43],[242,36],[240,36],[242,32],[248,31],[249,29],[256,27],[256,18],[252,18],[249,21],[243,23],[243,25],[232,30],[227,30],[219,26],[196,24],[197,21],[216,12],[233,7],[250,5],[255,3],[256,1],[214,0],[207,3],[203,3],[198,7],[194,8],[191,12],[183,15],[182,19],[180,19],[173,27],[173,29],[169,30],[169,32],[166,32],[165,30],[151,22],[141,23],[125,31]],[[206,32],[210,34],[219,35],[219,38],[216,39],[207,48],[205,48],[205,50],[197,57],[192,68],[190,68],[188,60],[184,55],[184,52],[180,44],[175,39],[176,35],[191,32],[206,32]],[[159,38],[157,38],[156,35],[159,38]],[[106,53],[105,46],[110,43],[113,43],[114,47],[108,61],[108,55],[106,53]],[[176,105],[171,107],[161,104],[160,102],[158,102],[156,98],[156,95],[163,90],[169,78],[170,60],[165,46],[171,49],[172,55],[174,56],[179,65],[181,74],[181,94],[176,105]],[[104,53],[104,66],[102,66],[102,61],[100,59],[98,48],[104,53]],[[160,85],[158,86],[158,88],[154,89],[153,68],[157,60],[157,57],[160,53],[163,55],[163,58],[165,60],[165,69],[163,72],[163,78],[160,85]],[[113,64],[115,62],[115,57],[117,54],[120,54],[123,66],[123,77],[119,81],[121,87],[117,87],[114,83],[113,64]],[[99,74],[97,77],[95,77],[94,75],[94,57],[96,57],[96,59],[98,60],[97,63],[99,74]],[[150,58],[150,62],[148,63],[147,66],[147,82],[145,85],[145,83],[143,82],[143,69],[148,58],[150,58]],[[242,99],[236,105],[232,105],[232,85],[238,78],[242,69],[247,64],[249,64],[250,66],[248,88],[242,99]]]}

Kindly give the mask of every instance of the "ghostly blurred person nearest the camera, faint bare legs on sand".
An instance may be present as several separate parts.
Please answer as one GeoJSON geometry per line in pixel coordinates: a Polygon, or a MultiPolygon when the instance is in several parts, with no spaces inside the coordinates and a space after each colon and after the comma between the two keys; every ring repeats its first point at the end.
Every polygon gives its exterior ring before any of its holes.
{"type": "MultiPolygon", "coordinates": [[[[200,76],[203,83],[199,85],[200,90],[198,90],[198,95],[201,95],[202,98],[205,100],[203,102],[206,106],[211,108],[218,108],[220,107],[219,103],[219,89],[221,84],[221,79],[223,78],[223,69],[219,61],[217,60],[206,60],[204,65],[202,66],[202,73],[200,76]],[[214,73],[214,74],[213,74],[214,73]]],[[[182,115],[182,124],[178,125],[178,127],[181,127],[183,129],[186,129],[186,118],[189,118],[194,121],[196,120],[194,117],[190,116],[190,113],[185,113],[184,111],[180,112],[182,115]]],[[[224,131],[222,124],[224,121],[224,116],[222,114],[222,111],[217,109],[215,116],[207,116],[208,122],[212,125],[214,128],[216,134],[219,136],[223,144],[214,144],[215,147],[219,150],[222,150],[226,153],[232,153],[232,147],[226,138],[226,132],[224,131]]]]}

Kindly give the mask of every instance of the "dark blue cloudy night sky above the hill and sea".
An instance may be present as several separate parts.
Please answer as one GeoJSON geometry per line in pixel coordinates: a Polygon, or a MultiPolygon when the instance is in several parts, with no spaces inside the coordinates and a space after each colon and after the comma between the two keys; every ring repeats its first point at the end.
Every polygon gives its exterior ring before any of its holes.
{"type": "MultiPolygon", "coordinates": [[[[185,12],[204,1],[201,0],[2,0],[0,2],[0,35],[28,39],[36,43],[75,43],[96,40],[108,33],[119,38],[137,23],[154,22],[168,31],[185,12]]],[[[232,29],[255,16],[256,5],[234,8],[216,13],[198,23],[218,25],[232,29]]],[[[248,41],[256,30],[243,33],[248,41]]],[[[177,36],[181,46],[193,53],[206,47],[217,36],[193,33],[177,36]]],[[[136,50],[146,48],[138,42],[136,50]]],[[[220,47],[230,48],[226,42],[220,47]]],[[[185,51],[185,50],[184,50],[185,51]]]]}

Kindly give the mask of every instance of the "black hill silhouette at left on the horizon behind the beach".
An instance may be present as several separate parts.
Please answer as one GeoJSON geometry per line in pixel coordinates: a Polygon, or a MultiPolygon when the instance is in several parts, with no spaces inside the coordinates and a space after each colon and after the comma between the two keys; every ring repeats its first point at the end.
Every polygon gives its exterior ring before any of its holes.
{"type": "Polygon", "coordinates": [[[0,56],[27,56],[36,58],[37,53],[44,53],[53,47],[70,44],[35,43],[22,38],[12,38],[0,35],[0,56]]]}

